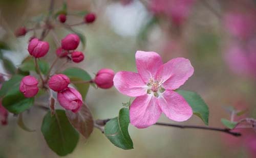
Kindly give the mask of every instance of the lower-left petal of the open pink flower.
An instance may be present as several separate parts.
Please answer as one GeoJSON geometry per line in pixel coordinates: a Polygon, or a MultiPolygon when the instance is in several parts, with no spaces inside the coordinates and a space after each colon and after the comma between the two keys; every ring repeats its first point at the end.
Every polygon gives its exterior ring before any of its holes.
{"type": "Polygon", "coordinates": [[[137,128],[146,128],[157,122],[161,115],[157,98],[152,95],[143,95],[135,98],[130,107],[131,124],[137,128]]]}

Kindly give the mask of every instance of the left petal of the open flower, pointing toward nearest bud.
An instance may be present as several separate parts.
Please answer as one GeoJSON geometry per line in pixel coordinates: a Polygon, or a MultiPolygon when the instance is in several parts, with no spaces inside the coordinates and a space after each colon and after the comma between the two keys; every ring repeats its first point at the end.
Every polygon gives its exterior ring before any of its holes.
{"type": "Polygon", "coordinates": [[[146,94],[147,86],[138,73],[120,71],[116,73],[113,81],[116,89],[124,95],[136,97],[146,94]]]}

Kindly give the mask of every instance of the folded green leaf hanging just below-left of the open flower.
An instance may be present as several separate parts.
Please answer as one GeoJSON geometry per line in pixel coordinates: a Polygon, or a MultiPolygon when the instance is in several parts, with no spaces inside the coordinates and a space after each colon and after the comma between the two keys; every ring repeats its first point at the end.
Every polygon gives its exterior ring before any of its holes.
{"type": "Polygon", "coordinates": [[[129,109],[122,108],[119,116],[106,122],[104,127],[105,136],[115,146],[124,150],[133,149],[133,141],[128,132],[129,123],[129,109]]]}

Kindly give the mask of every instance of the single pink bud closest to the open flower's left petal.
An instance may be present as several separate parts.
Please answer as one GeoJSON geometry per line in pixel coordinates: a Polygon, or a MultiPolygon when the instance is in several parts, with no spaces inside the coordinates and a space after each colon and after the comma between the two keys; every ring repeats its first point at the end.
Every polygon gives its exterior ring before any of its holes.
{"type": "Polygon", "coordinates": [[[115,72],[111,69],[101,69],[97,72],[94,82],[99,88],[108,89],[113,86],[115,72]]]}

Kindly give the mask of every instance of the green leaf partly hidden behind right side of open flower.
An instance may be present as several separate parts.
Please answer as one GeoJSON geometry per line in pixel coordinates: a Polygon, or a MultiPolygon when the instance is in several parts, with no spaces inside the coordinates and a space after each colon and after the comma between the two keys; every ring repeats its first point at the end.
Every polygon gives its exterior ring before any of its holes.
{"type": "Polygon", "coordinates": [[[189,106],[193,109],[193,113],[200,117],[204,124],[208,125],[209,108],[201,96],[192,91],[176,90],[176,92],[185,98],[189,106]]]}

